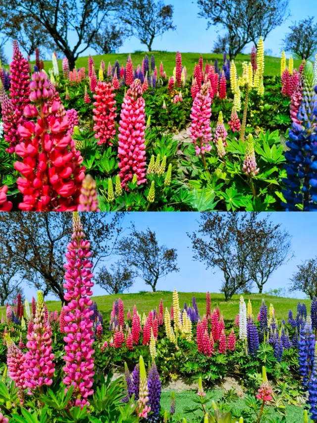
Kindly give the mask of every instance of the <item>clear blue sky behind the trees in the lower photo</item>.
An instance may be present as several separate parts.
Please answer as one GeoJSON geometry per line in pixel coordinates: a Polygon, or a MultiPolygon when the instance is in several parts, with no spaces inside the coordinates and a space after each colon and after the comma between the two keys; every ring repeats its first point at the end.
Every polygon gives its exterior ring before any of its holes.
{"type": "MultiPolygon", "coordinates": [[[[272,275],[267,284],[264,285],[264,292],[272,288],[287,289],[289,279],[297,270],[297,265],[302,260],[315,257],[317,254],[317,225],[316,215],[314,213],[275,212],[270,215],[270,219],[274,223],[282,224],[292,235],[292,248],[295,258],[280,267],[272,275]]],[[[172,291],[176,288],[179,292],[206,292],[207,290],[210,292],[219,292],[222,281],[221,272],[213,274],[212,270],[205,269],[203,263],[193,261],[192,259],[191,241],[186,233],[192,233],[198,228],[198,220],[200,220],[200,213],[194,212],[135,212],[125,215],[124,228],[128,228],[131,222],[134,222],[136,228],[140,230],[146,230],[147,227],[150,227],[151,230],[156,232],[160,243],[177,249],[180,271],[179,273],[171,273],[166,278],[160,279],[157,286],[158,290],[172,291]]],[[[127,233],[128,229],[125,230],[125,235],[127,233]]],[[[117,259],[118,257],[113,257],[113,261],[117,259]]],[[[36,293],[35,289],[24,288],[28,300],[31,300],[32,296],[36,293]]],[[[130,292],[149,291],[149,288],[143,281],[137,280],[130,292]]],[[[94,287],[94,295],[106,295],[106,292],[96,285],[94,287]]],[[[302,293],[291,293],[289,296],[305,298],[305,295],[302,293]]],[[[47,300],[49,299],[53,300],[53,296],[48,296],[47,300]]]]}

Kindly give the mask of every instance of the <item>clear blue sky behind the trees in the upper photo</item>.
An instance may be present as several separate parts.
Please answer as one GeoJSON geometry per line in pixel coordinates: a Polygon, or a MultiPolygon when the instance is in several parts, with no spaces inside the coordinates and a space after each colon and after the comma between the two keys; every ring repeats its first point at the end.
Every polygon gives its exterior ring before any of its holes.
{"type": "MultiPolygon", "coordinates": [[[[194,0],[164,0],[165,4],[172,4],[174,6],[174,24],[175,31],[168,31],[162,37],[155,39],[153,43],[153,50],[167,50],[175,52],[197,52],[210,53],[213,43],[217,38],[214,27],[208,31],[207,21],[204,18],[198,17],[198,6],[194,0]]],[[[282,39],[292,21],[304,19],[307,16],[314,16],[316,9],[316,1],[314,0],[290,0],[290,18],[280,27],[273,30],[265,40],[265,50],[272,50],[274,56],[279,56],[282,49],[282,39]]],[[[75,40],[71,40],[72,45],[75,40]]],[[[135,50],[145,50],[139,40],[135,37],[128,39],[120,48],[119,53],[129,53],[135,50]]],[[[251,51],[251,46],[247,47],[245,53],[251,51]]],[[[12,49],[10,42],[5,46],[5,53],[10,58],[12,49]]],[[[87,50],[83,56],[89,53],[94,54],[93,50],[87,50]]]]}

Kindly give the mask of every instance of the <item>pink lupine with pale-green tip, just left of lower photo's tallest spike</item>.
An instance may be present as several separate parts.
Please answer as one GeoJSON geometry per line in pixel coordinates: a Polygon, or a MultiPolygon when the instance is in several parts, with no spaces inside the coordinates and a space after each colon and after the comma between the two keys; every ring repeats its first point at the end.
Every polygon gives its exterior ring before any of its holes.
{"type": "Polygon", "coordinates": [[[45,316],[44,297],[42,291],[38,291],[38,301],[34,317],[34,326],[31,334],[26,336],[25,353],[25,385],[30,389],[37,386],[53,383],[55,364],[52,353],[52,329],[45,316]]]}

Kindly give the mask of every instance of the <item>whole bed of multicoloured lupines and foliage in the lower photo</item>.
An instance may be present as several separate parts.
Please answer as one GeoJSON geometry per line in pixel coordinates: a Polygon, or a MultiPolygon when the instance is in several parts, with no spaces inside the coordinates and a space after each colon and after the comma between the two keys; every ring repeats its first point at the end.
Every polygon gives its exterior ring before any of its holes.
{"type": "Polygon", "coordinates": [[[240,296],[236,316],[224,319],[209,292],[198,310],[174,290],[146,312],[116,298],[105,314],[93,297],[91,248],[74,212],[60,311],[48,310],[42,291],[31,304],[20,294],[6,304],[2,422],[287,422],[289,405],[303,422],[316,420],[315,297],[310,309],[298,302],[277,318],[273,303],[240,296]],[[122,376],[111,381],[113,370],[122,376]],[[239,389],[219,397],[214,387],[228,376],[239,389]],[[162,384],[179,377],[197,384],[181,413],[174,392],[170,407],[160,403],[162,384]]]}

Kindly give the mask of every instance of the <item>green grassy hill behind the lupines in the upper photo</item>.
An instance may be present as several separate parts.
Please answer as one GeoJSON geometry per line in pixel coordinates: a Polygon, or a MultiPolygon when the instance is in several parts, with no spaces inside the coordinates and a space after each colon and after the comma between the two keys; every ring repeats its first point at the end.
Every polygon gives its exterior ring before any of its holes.
{"type": "MultiPolygon", "coordinates": [[[[175,66],[175,52],[138,52],[132,53],[131,58],[133,61],[133,67],[135,68],[139,63],[142,64],[142,59],[146,54],[148,54],[149,59],[151,58],[152,53],[155,56],[156,65],[159,69],[159,63],[162,61],[164,65],[164,70],[167,76],[171,76],[173,74],[173,69],[175,66]]],[[[108,55],[94,55],[95,66],[98,74],[98,69],[100,67],[101,60],[104,60],[106,63],[106,68],[108,62],[110,61],[111,65],[114,65],[115,60],[118,60],[120,65],[126,63],[128,53],[121,53],[121,54],[108,54],[108,55]]],[[[187,68],[187,74],[192,75],[195,63],[198,63],[199,53],[182,53],[182,63],[187,68]]],[[[219,66],[222,66],[222,55],[215,55],[215,54],[204,54],[204,60],[212,60],[214,63],[215,59],[218,59],[219,66]]],[[[242,62],[243,61],[250,61],[250,55],[238,55],[236,57],[235,63],[237,65],[238,73],[241,75],[242,73],[242,62]]],[[[274,58],[270,56],[265,57],[265,68],[264,68],[264,75],[279,75],[280,74],[280,58],[274,58]]],[[[33,62],[34,63],[34,62],[33,62]]],[[[52,67],[51,61],[45,61],[45,69],[49,69],[52,67]]],[[[61,60],[58,60],[59,68],[61,70],[61,60]]],[[[294,66],[299,67],[301,64],[301,60],[294,60],[294,66]]],[[[76,61],[76,67],[86,67],[88,68],[88,57],[80,57],[76,61]]]]}

